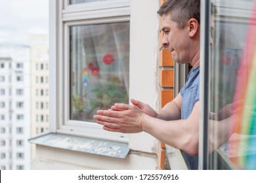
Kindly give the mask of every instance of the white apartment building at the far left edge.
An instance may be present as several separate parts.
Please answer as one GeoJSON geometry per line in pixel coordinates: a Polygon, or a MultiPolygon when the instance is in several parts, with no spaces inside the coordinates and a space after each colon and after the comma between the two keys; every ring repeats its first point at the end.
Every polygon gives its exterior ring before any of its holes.
{"type": "Polygon", "coordinates": [[[0,45],[0,165],[30,169],[30,47],[0,45]]]}

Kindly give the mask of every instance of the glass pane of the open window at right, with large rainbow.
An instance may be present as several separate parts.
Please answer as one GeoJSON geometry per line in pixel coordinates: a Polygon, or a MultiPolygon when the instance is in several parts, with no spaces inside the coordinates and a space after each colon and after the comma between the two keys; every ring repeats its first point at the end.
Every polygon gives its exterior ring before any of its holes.
{"type": "Polygon", "coordinates": [[[256,169],[256,1],[215,2],[209,169],[256,169]]]}

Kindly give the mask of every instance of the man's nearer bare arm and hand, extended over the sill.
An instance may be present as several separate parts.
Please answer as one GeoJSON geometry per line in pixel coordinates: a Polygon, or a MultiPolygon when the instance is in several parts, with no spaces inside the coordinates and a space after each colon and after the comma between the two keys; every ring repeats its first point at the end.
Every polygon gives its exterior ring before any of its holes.
{"type": "MultiPolygon", "coordinates": [[[[184,150],[190,155],[198,154],[199,101],[194,105],[188,119],[172,121],[148,116],[134,105],[116,104],[115,106],[125,110],[98,110],[98,115],[94,116],[96,122],[103,125],[103,129],[121,133],[145,131],[156,139],[184,150]]],[[[167,115],[166,112],[167,109],[171,110],[170,107],[171,103],[160,115],[169,118],[171,115],[167,115]]],[[[176,110],[177,108],[174,109],[176,110]]],[[[178,112],[180,116],[180,110],[178,112]]]]}

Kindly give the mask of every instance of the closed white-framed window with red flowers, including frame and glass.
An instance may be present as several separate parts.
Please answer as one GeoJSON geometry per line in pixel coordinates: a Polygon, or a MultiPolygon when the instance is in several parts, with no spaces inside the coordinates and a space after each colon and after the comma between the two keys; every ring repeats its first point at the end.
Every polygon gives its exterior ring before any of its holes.
{"type": "Polygon", "coordinates": [[[102,130],[93,115],[100,108],[129,102],[130,2],[64,1],[63,6],[64,16],[58,21],[64,26],[57,33],[64,33],[59,40],[63,47],[55,50],[63,58],[50,63],[56,64],[53,67],[59,73],[55,90],[63,88],[54,95],[64,99],[57,104],[60,108],[56,115],[64,118],[58,118],[56,131],[127,142],[129,135],[102,130]],[[78,7],[70,3],[85,4],[78,7]],[[83,15],[74,16],[81,8],[83,15]]]}

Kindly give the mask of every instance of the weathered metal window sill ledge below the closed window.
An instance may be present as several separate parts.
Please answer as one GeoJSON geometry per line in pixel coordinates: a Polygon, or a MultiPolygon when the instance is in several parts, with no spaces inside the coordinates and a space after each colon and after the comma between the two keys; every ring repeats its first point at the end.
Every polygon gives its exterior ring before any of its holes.
{"type": "Polygon", "coordinates": [[[28,140],[30,143],[89,154],[125,159],[129,153],[127,143],[89,139],[60,133],[45,133],[28,140]]]}

